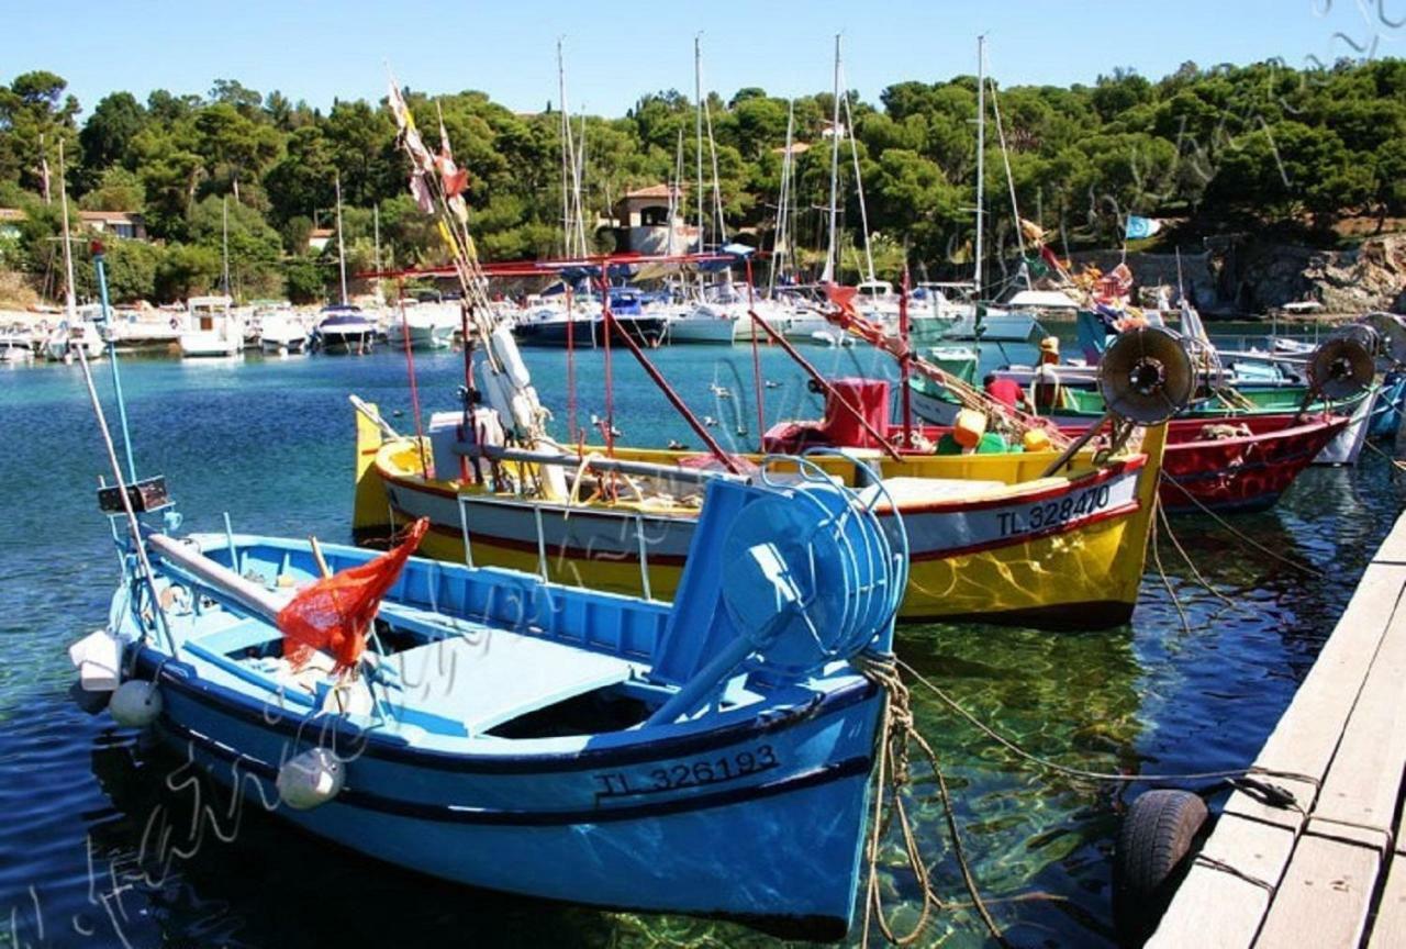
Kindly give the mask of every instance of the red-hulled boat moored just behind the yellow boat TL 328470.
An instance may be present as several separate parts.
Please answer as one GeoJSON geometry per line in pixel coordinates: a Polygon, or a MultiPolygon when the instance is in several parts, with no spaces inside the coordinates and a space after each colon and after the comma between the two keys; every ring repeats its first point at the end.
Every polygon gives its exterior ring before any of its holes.
{"type": "MultiPolygon", "coordinates": [[[[830,382],[825,418],[780,422],[762,439],[762,450],[793,454],[806,448],[877,448],[856,419],[856,411],[875,432],[903,443],[903,426],[890,416],[889,382],[841,378],[830,382]],[[841,405],[844,399],[846,405],[841,405]]],[[[1173,419],[1167,423],[1163,484],[1159,499],[1168,513],[1219,513],[1272,508],[1313,457],[1348,423],[1334,415],[1258,415],[1215,422],[1173,419]]],[[[1081,434],[1087,426],[1062,426],[1081,434]]],[[[925,441],[936,444],[950,429],[912,426],[925,441]]],[[[908,451],[918,453],[917,448],[908,451]]]]}

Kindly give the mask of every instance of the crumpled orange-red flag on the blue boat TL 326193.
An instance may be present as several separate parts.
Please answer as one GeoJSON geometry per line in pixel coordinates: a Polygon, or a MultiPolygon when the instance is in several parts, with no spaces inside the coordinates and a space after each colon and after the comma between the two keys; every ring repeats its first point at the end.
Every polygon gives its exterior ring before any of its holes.
{"type": "Polygon", "coordinates": [[[337,672],[356,668],[381,599],[420,545],[429,524],[427,517],[420,517],[396,547],[360,567],[319,579],[278,610],[283,654],[295,669],[319,651],[332,655],[337,672]]]}

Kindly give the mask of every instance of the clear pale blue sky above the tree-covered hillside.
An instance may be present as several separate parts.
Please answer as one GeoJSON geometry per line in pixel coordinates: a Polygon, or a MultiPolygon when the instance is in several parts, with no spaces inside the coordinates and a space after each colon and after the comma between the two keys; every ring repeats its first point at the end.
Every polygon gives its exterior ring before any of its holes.
{"type": "Polygon", "coordinates": [[[1185,60],[1298,66],[1354,55],[1353,44],[1402,55],[1406,27],[1391,25],[1402,20],[1406,0],[0,0],[0,82],[49,69],[84,111],[115,89],[204,94],[214,79],[325,108],[382,96],[389,62],[412,89],[479,89],[534,111],[555,100],[565,37],[572,108],[619,115],[644,91],[692,90],[699,31],[704,86],[724,97],[828,89],[842,32],[846,84],[873,100],[897,80],[973,72],[979,32],[1004,84],[1069,84],[1115,66],[1156,79],[1185,60]]]}

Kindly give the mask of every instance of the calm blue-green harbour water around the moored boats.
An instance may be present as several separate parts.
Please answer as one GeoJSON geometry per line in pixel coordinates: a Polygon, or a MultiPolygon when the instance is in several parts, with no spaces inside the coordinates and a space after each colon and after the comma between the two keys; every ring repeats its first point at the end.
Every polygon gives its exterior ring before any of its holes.
{"type": "MultiPolygon", "coordinates": [[[[873,356],[807,350],[827,373],[869,371],[873,356]]],[[[724,441],[756,434],[751,350],[661,350],[665,374],[724,441]],[[717,399],[711,382],[737,398],[717,399]],[[745,430],[745,434],[738,434],[745,430]]],[[[565,359],[530,356],[544,402],[565,415],[565,359]]],[[[603,360],[578,360],[579,413],[605,415],[603,360]]],[[[418,357],[425,409],[451,408],[451,353],[418,357]]],[[[880,367],[882,368],[882,367],[880,367]]],[[[818,399],[782,353],[763,351],[768,423],[813,415],[818,399]]],[[[347,540],[353,415],[347,394],[401,412],[404,357],[294,357],[190,364],[124,360],[138,467],[167,475],[193,530],[236,529],[347,540]]],[[[628,441],[697,444],[628,356],[614,359],[614,418],[628,441]]],[[[98,368],[110,395],[110,368],[98,368]]],[[[479,893],[401,872],[229,813],[179,759],[89,717],[67,696],[69,643],[101,626],[117,564],[93,489],[104,470],[77,367],[0,371],[0,945],[776,945],[730,924],[607,914],[479,893]],[[201,806],[194,796],[202,793],[201,806]],[[165,859],[163,859],[165,858],[165,859]]],[[[1402,481],[1368,453],[1355,471],[1312,470],[1272,512],[1236,526],[1309,575],[1247,550],[1211,520],[1174,530],[1206,592],[1170,544],[1166,582],[1149,562],[1125,628],[1052,634],[984,626],[901,630],[901,655],[1032,752],[1099,770],[1209,770],[1249,763],[1403,503],[1402,481]],[[1182,624],[1168,585],[1187,612],[1182,624]]],[[[995,918],[1018,946],[1111,945],[1109,856],[1130,792],[1033,770],[915,689],[969,853],[995,918]]],[[[962,908],[934,786],[920,780],[918,832],[953,908],[925,943],[979,946],[962,908]]],[[[896,855],[894,855],[896,856],[896,855]]],[[[898,922],[915,889],[883,877],[898,922]]]]}

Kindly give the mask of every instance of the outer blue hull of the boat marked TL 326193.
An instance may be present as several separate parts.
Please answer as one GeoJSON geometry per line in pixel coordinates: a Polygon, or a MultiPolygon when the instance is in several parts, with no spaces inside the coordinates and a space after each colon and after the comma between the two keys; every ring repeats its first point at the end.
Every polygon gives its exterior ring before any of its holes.
{"type": "Polygon", "coordinates": [[[277,765],[314,742],[354,752],[335,800],[274,808],[328,841],[491,890],[824,939],[849,928],[882,713],[868,683],[775,721],[654,748],[471,758],[415,752],[335,717],[309,724],[181,662],[157,673],[163,658],[148,648],[138,664],[143,678],[159,675],[157,732],[238,786],[246,807],[277,801],[277,765]]]}

